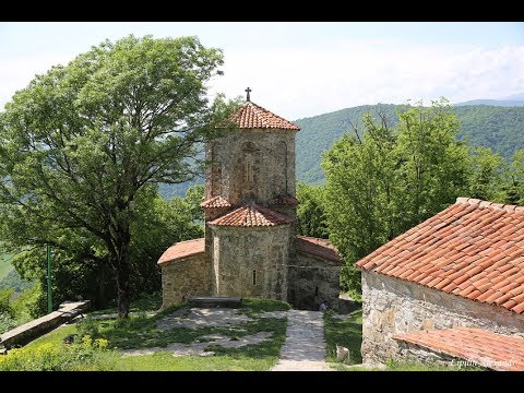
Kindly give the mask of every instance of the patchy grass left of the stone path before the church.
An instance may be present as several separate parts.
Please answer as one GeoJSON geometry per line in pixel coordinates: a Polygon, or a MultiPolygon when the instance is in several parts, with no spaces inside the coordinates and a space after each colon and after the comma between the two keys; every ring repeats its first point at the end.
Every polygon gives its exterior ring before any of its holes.
{"type": "MultiPolygon", "coordinates": [[[[287,310],[289,305],[274,300],[245,299],[241,312],[250,315],[262,311],[287,310]]],[[[68,334],[86,334],[93,338],[103,337],[108,341],[110,350],[96,353],[88,362],[74,364],[74,370],[127,370],[127,371],[264,371],[278,361],[281,346],[285,341],[287,319],[253,318],[234,326],[203,326],[198,329],[175,327],[159,331],[156,321],[186,303],[164,310],[155,315],[145,314],[130,317],[128,320],[93,320],[87,318],[78,325],[66,325],[32,342],[25,348],[41,352],[43,345],[60,346],[68,334]],[[260,344],[246,345],[239,348],[224,348],[210,343],[205,350],[213,350],[214,356],[180,356],[159,350],[153,355],[122,356],[115,349],[165,347],[171,343],[192,343],[202,340],[202,335],[219,334],[238,340],[258,332],[271,332],[272,336],[260,344]]]]}

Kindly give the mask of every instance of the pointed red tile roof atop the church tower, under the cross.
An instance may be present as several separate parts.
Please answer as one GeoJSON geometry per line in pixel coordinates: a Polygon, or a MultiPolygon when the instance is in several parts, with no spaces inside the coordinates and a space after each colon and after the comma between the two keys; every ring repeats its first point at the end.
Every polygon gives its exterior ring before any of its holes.
{"type": "Polygon", "coordinates": [[[251,102],[243,104],[233,115],[233,121],[240,129],[300,130],[298,126],[251,102]]]}

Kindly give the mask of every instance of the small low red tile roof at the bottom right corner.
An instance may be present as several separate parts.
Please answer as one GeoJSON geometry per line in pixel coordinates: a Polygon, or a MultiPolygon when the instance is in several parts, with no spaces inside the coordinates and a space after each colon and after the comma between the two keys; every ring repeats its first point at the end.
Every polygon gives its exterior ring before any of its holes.
{"type": "Polygon", "coordinates": [[[455,327],[397,334],[393,338],[495,370],[524,371],[524,338],[481,329],[455,327]]]}

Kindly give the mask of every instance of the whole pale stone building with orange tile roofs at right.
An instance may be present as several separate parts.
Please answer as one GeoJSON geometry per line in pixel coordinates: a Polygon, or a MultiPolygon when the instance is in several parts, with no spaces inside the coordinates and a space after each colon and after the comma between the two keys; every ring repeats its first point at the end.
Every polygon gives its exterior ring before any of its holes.
{"type": "Polygon", "coordinates": [[[513,347],[508,369],[524,370],[514,359],[524,353],[524,207],[458,198],[356,265],[365,361],[414,354],[499,361],[489,343],[500,342],[513,347]]]}

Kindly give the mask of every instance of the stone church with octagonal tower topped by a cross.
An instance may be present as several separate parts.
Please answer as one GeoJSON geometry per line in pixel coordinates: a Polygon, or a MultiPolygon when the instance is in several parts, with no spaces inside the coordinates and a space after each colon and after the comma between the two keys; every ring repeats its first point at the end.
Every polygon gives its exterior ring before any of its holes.
{"type": "Polygon", "coordinates": [[[209,142],[205,237],[158,260],[164,307],[192,296],[262,297],[337,308],[342,259],[324,239],[297,236],[295,135],[299,127],[247,100],[237,130],[209,142]]]}

